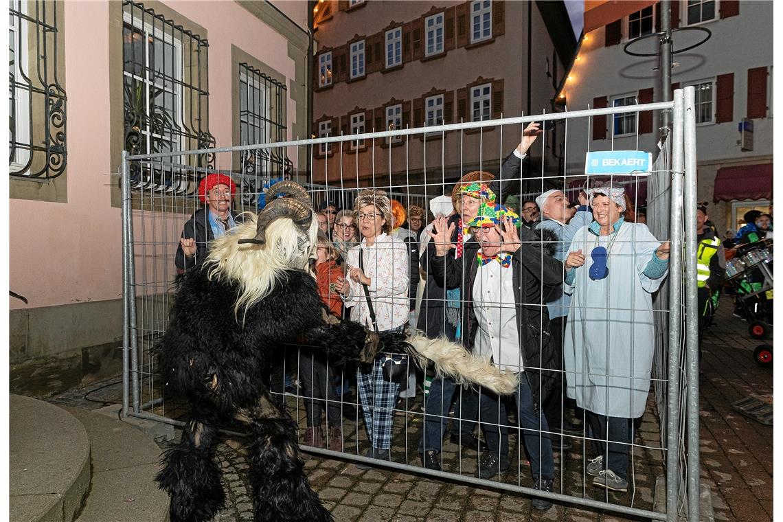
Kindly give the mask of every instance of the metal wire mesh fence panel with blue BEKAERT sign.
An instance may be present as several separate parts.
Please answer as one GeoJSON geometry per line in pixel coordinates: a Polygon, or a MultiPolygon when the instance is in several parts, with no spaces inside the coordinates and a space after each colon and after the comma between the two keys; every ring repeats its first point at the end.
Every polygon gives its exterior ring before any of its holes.
{"type": "MultiPolygon", "coordinates": [[[[688,437],[694,441],[684,420],[688,394],[694,397],[686,363],[695,352],[686,350],[682,328],[682,256],[695,249],[681,232],[691,212],[683,191],[695,184],[686,180],[683,189],[687,111],[678,112],[678,103],[681,92],[674,103],[624,106],[623,113],[585,110],[125,156],[124,414],[186,419],[188,405],[165,393],[154,350],[176,297],[175,280],[199,268],[208,239],[232,233],[244,212],[268,203],[265,187],[290,178],[305,185],[314,210],[323,211],[319,221],[331,243],[323,244],[325,253],[311,269],[334,315],[371,328],[368,300],[379,329],[445,336],[492,357],[520,380],[514,394],[498,397],[411,364],[400,383],[390,383],[381,375],[384,359],[373,368],[336,367],[292,333],[266,381],[298,424],[301,445],[359,465],[656,520],[675,520],[686,504],[693,509],[694,499],[698,509],[693,485],[684,483],[692,470],[698,474],[698,454],[686,453],[688,437]],[[568,156],[569,135],[578,129],[590,135],[601,117],[652,110],[673,110],[674,130],[650,171],[588,176],[569,166],[581,161],[568,156]],[[525,133],[531,122],[540,133],[525,133]],[[292,164],[283,175],[254,169],[254,183],[243,183],[242,163],[258,151],[310,161],[292,164]],[[182,196],[133,185],[125,175],[165,168],[203,179],[207,171],[189,165],[207,154],[215,164],[209,173],[230,178],[233,191],[224,182],[226,190],[207,185],[182,196]],[[474,175],[460,182],[468,172],[474,175]],[[604,189],[592,193],[593,203],[601,196],[618,203],[616,189],[624,189],[622,212],[593,207],[591,214],[584,189],[597,187],[604,189]],[[363,200],[366,189],[383,191],[388,200],[363,200]],[[550,191],[562,196],[557,203],[550,191]],[[549,197],[536,202],[544,193],[549,197]],[[530,212],[536,205],[538,217],[530,212]],[[516,236],[493,226],[507,210],[517,219],[516,236]],[[554,235],[542,232],[547,228],[554,235]],[[453,239],[443,239],[446,232],[453,239]],[[183,238],[194,239],[201,257],[183,238]],[[655,261],[667,240],[668,266],[655,261]],[[594,255],[598,247],[604,261],[594,255]],[[586,262],[564,269],[572,253],[586,262]],[[607,272],[602,277],[601,270],[607,272]],[[657,477],[665,477],[665,509],[651,495],[657,477]],[[542,479],[551,479],[552,488],[542,479]]],[[[607,148],[615,148],[614,139],[607,148]]],[[[225,428],[226,437],[241,444],[240,430],[230,423],[225,428]]]]}

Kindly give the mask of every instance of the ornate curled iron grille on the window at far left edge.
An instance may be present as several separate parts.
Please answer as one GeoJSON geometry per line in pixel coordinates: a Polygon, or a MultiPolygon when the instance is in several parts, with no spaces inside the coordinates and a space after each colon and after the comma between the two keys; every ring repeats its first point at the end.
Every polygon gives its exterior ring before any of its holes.
{"type": "Polygon", "coordinates": [[[9,14],[9,173],[56,178],[67,160],[57,6],[52,0],[12,0],[9,14]]]}

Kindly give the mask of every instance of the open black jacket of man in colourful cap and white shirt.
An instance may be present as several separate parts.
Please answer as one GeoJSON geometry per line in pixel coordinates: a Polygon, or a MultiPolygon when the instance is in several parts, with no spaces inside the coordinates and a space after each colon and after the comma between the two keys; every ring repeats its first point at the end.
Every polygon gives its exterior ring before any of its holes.
{"type": "MultiPolygon", "coordinates": [[[[518,292],[514,292],[517,330],[525,365],[524,376],[532,390],[533,404],[538,405],[539,398],[546,401],[554,385],[554,372],[547,370],[556,369],[554,346],[550,343],[549,313],[542,296],[542,287],[563,283],[563,264],[550,255],[550,247],[556,240],[550,232],[533,232],[521,227],[519,234],[522,244],[514,252],[511,261],[514,288],[518,289],[518,292]]],[[[447,288],[462,289],[462,342],[471,350],[478,332],[478,319],[473,310],[478,249],[478,243],[469,241],[465,244],[464,262],[451,255],[435,256],[430,260],[430,268],[436,279],[444,281],[447,288]]]]}

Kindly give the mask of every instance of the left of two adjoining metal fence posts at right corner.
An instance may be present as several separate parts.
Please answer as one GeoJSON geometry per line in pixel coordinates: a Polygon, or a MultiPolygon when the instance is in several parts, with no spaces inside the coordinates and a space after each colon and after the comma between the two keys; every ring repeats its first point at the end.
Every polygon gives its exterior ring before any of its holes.
{"type": "Polygon", "coordinates": [[[674,93],[669,257],[669,397],[666,405],[666,520],[676,522],[680,490],[680,331],[682,326],[683,91],[674,93]]]}

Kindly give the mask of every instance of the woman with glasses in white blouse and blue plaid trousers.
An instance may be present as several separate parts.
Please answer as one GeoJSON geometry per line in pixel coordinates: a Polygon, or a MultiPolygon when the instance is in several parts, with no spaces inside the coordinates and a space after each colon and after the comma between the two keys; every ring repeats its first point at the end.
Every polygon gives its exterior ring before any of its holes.
{"type": "MultiPolygon", "coordinates": [[[[391,236],[391,202],[383,191],[366,189],[356,197],[354,210],[362,243],[348,251],[348,276],[335,286],[353,321],[378,332],[402,332],[408,322],[409,260],[405,243],[391,236]]],[[[388,460],[399,384],[384,380],[383,360],[379,355],[372,365],[359,366],[356,387],[371,444],[366,456],[388,460]]]]}

